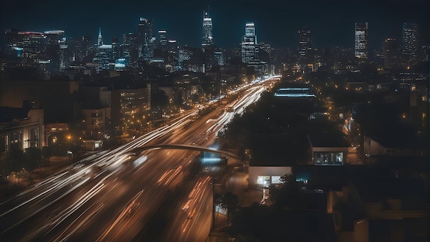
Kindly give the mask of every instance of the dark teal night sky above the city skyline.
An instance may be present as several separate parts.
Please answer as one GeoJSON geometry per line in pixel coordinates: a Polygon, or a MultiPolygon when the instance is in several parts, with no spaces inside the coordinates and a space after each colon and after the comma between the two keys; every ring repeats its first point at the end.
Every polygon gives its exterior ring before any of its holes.
{"type": "Polygon", "coordinates": [[[418,23],[420,39],[430,42],[429,0],[2,0],[1,46],[5,29],[65,30],[67,37],[87,35],[96,41],[99,27],[109,44],[113,36],[122,41],[122,34],[137,32],[139,17],[144,17],[153,21],[155,36],[158,30],[167,30],[168,39],[198,47],[207,6],[214,42],[223,48],[238,46],[247,22],[256,24],[259,42],[273,47],[296,48],[297,30],[306,27],[312,32],[313,47],[352,48],[354,23],[363,21],[369,22],[371,48],[381,48],[387,37],[400,40],[404,22],[418,23]]]}

